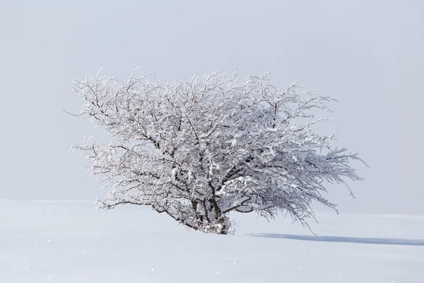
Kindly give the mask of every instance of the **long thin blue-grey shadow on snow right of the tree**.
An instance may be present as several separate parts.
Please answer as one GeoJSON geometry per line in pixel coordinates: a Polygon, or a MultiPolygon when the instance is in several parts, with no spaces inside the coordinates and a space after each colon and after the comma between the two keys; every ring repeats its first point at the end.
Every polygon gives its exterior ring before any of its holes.
{"type": "Polygon", "coordinates": [[[398,246],[424,246],[423,240],[402,238],[354,238],[343,236],[306,236],[274,233],[249,233],[248,236],[264,238],[283,238],[300,241],[318,241],[332,243],[367,243],[374,245],[398,245],[398,246]]]}

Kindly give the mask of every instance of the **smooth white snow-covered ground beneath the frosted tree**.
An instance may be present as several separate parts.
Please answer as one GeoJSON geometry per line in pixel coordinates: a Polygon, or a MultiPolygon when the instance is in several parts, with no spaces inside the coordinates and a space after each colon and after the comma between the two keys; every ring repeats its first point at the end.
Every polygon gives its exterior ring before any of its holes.
{"type": "Polygon", "coordinates": [[[424,282],[424,216],[237,216],[235,236],[187,232],[143,207],[0,201],[0,282],[424,282]]]}

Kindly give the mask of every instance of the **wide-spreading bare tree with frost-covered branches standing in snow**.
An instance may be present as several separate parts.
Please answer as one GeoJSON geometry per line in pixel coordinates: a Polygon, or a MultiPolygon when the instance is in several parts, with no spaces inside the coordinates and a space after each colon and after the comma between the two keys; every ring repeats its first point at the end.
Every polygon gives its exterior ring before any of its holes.
{"type": "MultiPolygon", "coordinates": [[[[332,98],[215,72],[167,83],[148,76],[73,81],[86,105],[78,113],[110,134],[83,146],[89,173],[110,187],[100,207],[153,207],[197,231],[229,233],[230,212],[266,218],[288,213],[306,224],[312,202],[336,209],[326,185],[362,180],[357,154],[314,132],[316,110],[332,98]]],[[[349,189],[350,190],[350,189],[349,189]]]]}

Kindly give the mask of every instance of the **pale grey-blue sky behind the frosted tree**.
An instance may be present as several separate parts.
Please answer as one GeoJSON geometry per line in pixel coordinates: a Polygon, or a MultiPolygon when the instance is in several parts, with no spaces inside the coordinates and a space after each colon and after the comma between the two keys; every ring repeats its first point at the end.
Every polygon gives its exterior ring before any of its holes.
{"type": "MultiPolygon", "coordinates": [[[[3,199],[101,196],[87,161],[68,154],[93,125],[70,81],[104,67],[160,80],[271,71],[334,96],[340,146],[365,181],[329,187],[341,212],[424,214],[424,1],[0,2],[3,199]]],[[[323,129],[324,130],[324,129],[323,129]]]]}

